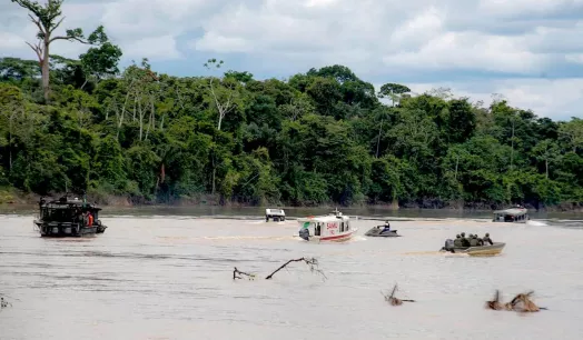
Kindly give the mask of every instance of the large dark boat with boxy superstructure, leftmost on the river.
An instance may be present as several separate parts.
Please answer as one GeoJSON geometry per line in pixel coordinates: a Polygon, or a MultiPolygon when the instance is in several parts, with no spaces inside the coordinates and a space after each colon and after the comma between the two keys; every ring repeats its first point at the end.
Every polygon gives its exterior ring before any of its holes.
{"type": "Polygon", "coordinates": [[[66,196],[58,200],[39,201],[39,218],[34,220],[41,237],[82,237],[103,233],[107,226],[99,220],[99,211],[95,204],[78,198],[66,196]],[[92,217],[90,223],[89,214],[92,217]]]}

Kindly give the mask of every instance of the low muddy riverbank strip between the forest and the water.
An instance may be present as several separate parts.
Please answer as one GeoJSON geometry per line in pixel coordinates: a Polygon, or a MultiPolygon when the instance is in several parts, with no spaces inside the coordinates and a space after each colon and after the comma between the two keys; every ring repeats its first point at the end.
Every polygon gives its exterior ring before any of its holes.
{"type": "MultiPolygon", "coordinates": [[[[63,193],[53,193],[50,197],[58,198],[63,193]]],[[[9,210],[11,207],[20,209],[34,208],[40,199],[39,194],[26,193],[13,188],[0,189],[0,207],[2,210],[9,210]]],[[[223,207],[223,208],[267,208],[281,207],[284,209],[306,208],[306,209],[335,209],[335,208],[352,208],[352,209],[373,209],[373,210],[471,210],[471,211],[493,211],[497,209],[505,209],[510,204],[485,203],[485,202],[463,202],[463,201],[443,201],[419,200],[415,202],[375,202],[375,203],[358,203],[342,206],[335,202],[319,203],[319,204],[290,204],[286,202],[273,204],[254,204],[249,202],[229,201],[223,199],[220,196],[199,194],[197,197],[182,197],[172,199],[167,202],[149,202],[141,199],[135,199],[123,196],[103,196],[103,194],[88,194],[88,201],[96,202],[100,206],[111,208],[165,208],[165,207],[223,207]]],[[[549,211],[549,212],[583,212],[583,206],[572,202],[563,202],[556,206],[533,206],[524,204],[528,210],[549,211]]]]}

